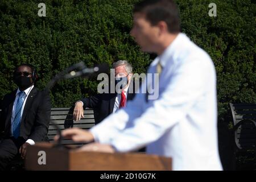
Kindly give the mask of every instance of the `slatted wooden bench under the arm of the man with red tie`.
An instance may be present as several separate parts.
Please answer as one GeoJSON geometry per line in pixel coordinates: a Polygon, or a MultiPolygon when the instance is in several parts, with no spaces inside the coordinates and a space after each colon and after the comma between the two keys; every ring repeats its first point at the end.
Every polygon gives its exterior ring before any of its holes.
{"type": "MultiPolygon", "coordinates": [[[[68,129],[71,127],[79,127],[80,129],[90,129],[95,125],[94,114],[92,109],[84,110],[84,118],[81,118],[80,121],[73,120],[73,107],[71,108],[52,108],[51,109],[51,122],[49,123],[48,129],[48,139],[49,142],[53,142],[53,137],[58,134],[56,126],[53,125],[53,122],[59,127],[60,130],[68,129]]],[[[64,145],[76,145],[79,146],[81,143],[74,143],[70,139],[64,139],[62,144],[64,145]]]]}

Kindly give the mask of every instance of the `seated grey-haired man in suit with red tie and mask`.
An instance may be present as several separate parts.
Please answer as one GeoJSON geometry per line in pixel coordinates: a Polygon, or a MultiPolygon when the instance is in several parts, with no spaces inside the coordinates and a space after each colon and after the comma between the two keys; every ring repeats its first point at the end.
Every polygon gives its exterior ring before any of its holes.
{"type": "Polygon", "coordinates": [[[73,112],[73,118],[76,121],[80,120],[81,117],[84,118],[84,109],[89,107],[94,110],[95,123],[97,124],[105,119],[109,114],[115,113],[115,111],[121,107],[125,107],[127,100],[133,100],[135,96],[133,88],[135,87],[134,85],[130,86],[131,77],[133,76],[133,68],[125,60],[119,60],[113,63],[112,67],[115,70],[115,78],[117,78],[115,80],[116,84],[118,80],[122,80],[118,78],[127,78],[126,86],[123,86],[121,93],[102,93],[77,101],[73,112]]]}

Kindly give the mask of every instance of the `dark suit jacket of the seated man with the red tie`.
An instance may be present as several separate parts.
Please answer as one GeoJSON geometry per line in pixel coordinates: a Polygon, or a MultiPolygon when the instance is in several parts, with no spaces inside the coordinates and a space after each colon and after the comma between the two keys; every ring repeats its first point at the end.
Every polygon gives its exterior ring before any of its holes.
{"type": "MultiPolygon", "coordinates": [[[[129,93],[129,89],[127,90],[127,101],[133,100],[135,96],[134,90],[132,93],[129,93]]],[[[96,96],[82,98],[81,101],[84,102],[84,109],[86,107],[93,109],[95,123],[97,124],[108,117],[109,114],[113,113],[115,97],[117,97],[117,93],[102,93],[96,96]]]]}

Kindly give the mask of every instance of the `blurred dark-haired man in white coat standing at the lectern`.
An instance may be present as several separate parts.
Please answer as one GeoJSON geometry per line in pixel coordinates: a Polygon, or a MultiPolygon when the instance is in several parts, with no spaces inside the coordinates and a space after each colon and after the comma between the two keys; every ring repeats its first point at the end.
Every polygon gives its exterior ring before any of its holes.
{"type": "MultiPolygon", "coordinates": [[[[68,129],[63,136],[92,142],[83,151],[129,152],[168,156],[174,170],[222,170],[218,154],[216,72],[209,55],[180,32],[172,0],[147,0],[134,7],[131,36],[142,51],[157,53],[145,81],[125,109],[89,131],[68,129]],[[150,99],[149,85],[159,85],[150,99]]],[[[171,165],[171,164],[170,164],[171,165]]]]}

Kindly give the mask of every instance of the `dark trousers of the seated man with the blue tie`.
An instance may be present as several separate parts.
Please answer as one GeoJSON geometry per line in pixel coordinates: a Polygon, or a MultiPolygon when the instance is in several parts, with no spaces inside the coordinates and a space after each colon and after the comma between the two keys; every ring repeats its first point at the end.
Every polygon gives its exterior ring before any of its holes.
{"type": "Polygon", "coordinates": [[[5,170],[16,155],[20,155],[19,148],[24,142],[22,137],[17,139],[10,137],[0,141],[0,171],[5,170]]]}

